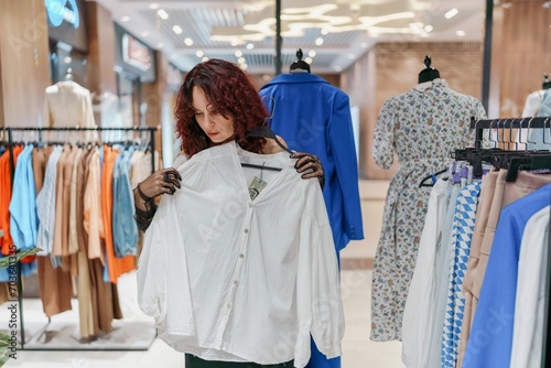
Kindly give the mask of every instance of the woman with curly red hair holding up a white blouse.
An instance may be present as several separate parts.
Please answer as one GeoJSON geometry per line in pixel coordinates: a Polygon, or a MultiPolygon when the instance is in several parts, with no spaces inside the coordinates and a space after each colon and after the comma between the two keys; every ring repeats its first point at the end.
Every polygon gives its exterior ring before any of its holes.
{"type": "MultiPolygon", "coordinates": [[[[175,115],[177,133],[182,139],[182,152],[188,159],[204,150],[222,147],[228,142],[236,142],[240,149],[257,154],[273,155],[283,151],[274,140],[247,137],[248,132],[261,127],[269,115],[248,76],[235,64],[210,59],[195,66],[186,75],[180,89],[175,115]]],[[[293,158],[298,159],[294,167],[303,178],[316,177],[323,185],[323,169],[315,156],[295,153],[293,158]]],[[[176,160],[182,161],[180,158],[176,160]]],[[[170,167],[156,171],[137,186],[134,190],[136,219],[142,230],[150,226],[156,212],[155,197],[162,194],[174,195],[176,188],[181,188],[181,181],[185,182],[185,180],[176,169],[170,167]]],[[[331,231],[328,234],[331,238],[331,231]]],[[[332,247],[327,247],[328,253],[334,256],[332,247]]],[[[334,264],[329,262],[327,269],[328,278],[337,280],[336,259],[334,264]],[[334,270],[333,266],[335,266],[334,270]],[[335,271],[333,279],[331,278],[332,271],[335,271]]],[[[336,320],[338,318],[339,316],[336,320]]],[[[341,328],[341,325],[338,327],[341,328]]],[[[293,362],[289,360],[261,366],[235,360],[203,360],[197,356],[186,355],[187,368],[292,366],[293,362]]]]}

